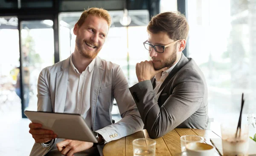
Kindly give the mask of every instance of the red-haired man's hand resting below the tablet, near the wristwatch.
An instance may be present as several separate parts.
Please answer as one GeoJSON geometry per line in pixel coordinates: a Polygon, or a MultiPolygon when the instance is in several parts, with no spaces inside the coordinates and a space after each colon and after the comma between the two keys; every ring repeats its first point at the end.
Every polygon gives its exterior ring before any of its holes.
{"type": "Polygon", "coordinates": [[[82,142],[78,140],[64,140],[56,144],[58,150],[64,156],[74,156],[74,153],[81,152],[93,147],[92,142],[82,142]]]}

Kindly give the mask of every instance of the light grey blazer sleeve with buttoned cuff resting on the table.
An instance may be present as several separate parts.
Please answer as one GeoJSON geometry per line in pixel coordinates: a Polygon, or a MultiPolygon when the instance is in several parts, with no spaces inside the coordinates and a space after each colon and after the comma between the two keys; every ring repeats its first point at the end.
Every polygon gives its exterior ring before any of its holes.
{"type": "Polygon", "coordinates": [[[122,119],[105,128],[96,130],[96,132],[103,136],[106,142],[120,139],[124,136],[143,130],[144,126],[143,121],[140,118],[140,113],[129,91],[129,85],[126,77],[119,66],[112,73],[112,84],[112,94],[116,99],[122,119]],[[109,135],[115,133],[117,134],[117,137],[109,137],[109,135]]]}

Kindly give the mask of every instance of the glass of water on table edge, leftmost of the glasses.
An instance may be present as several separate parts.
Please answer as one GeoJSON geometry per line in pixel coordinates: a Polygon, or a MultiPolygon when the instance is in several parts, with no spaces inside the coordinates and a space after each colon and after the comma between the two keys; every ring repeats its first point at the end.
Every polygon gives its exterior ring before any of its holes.
{"type": "Polygon", "coordinates": [[[153,139],[140,138],[132,142],[134,156],[155,156],[157,142],[153,139]]]}

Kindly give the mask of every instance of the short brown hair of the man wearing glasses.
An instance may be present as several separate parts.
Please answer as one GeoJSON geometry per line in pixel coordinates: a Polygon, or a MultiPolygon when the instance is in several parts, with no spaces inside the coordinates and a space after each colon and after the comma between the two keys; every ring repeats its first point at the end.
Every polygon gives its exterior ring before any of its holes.
{"type": "Polygon", "coordinates": [[[152,17],[147,31],[153,34],[161,31],[167,32],[172,40],[186,40],[189,33],[189,24],[186,17],[179,11],[168,11],[152,17]]]}

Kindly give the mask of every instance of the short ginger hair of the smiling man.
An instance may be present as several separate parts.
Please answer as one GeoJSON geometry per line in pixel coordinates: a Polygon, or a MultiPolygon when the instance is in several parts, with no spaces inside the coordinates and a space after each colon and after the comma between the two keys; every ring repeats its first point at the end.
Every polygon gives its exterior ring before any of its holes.
{"type": "Polygon", "coordinates": [[[110,28],[111,15],[108,13],[107,10],[100,8],[88,8],[87,10],[84,10],[76,24],[78,26],[83,25],[84,21],[90,14],[105,19],[108,22],[108,28],[110,28]]]}

